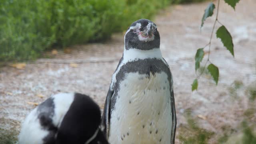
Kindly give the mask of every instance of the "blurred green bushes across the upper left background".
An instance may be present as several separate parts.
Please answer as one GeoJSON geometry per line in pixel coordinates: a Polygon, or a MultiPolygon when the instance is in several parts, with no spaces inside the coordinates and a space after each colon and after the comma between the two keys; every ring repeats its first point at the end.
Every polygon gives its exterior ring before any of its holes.
{"type": "Polygon", "coordinates": [[[50,48],[105,40],[172,2],[0,0],[0,62],[33,60],[50,48]]]}

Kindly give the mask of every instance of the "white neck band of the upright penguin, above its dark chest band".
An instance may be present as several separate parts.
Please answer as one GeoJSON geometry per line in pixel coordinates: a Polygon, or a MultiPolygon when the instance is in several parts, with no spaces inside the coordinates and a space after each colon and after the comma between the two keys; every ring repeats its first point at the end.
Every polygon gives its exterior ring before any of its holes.
{"type": "Polygon", "coordinates": [[[158,58],[162,59],[162,53],[160,48],[153,48],[150,50],[140,50],[136,48],[126,49],[124,48],[123,54],[124,61],[143,60],[147,58],[158,58]]]}

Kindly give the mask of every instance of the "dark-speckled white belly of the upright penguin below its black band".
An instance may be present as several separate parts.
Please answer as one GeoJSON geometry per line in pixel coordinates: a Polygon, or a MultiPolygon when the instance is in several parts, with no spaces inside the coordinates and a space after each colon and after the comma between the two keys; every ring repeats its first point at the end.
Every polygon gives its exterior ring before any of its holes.
{"type": "Polygon", "coordinates": [[[166,73],[128,73],[110,119],[111,144],[170,144],[170,84],[166,73]]]}

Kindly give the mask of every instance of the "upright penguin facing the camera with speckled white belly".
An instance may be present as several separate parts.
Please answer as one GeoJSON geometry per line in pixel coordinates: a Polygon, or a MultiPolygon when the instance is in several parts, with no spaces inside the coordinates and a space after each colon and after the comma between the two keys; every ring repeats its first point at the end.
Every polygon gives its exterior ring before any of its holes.
{"type": "Polygon", "coordinates": [[[112,76],[101,128],[110,144],[174,144],[172,73],[150,20],[137,20],[124,35],[124,53],[112,76]]]}

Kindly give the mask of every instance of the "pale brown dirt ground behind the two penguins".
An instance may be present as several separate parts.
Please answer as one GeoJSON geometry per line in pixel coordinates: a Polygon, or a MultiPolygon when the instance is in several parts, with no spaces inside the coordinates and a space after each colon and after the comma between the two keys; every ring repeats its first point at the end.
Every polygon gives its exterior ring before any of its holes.
{"type": "MultiPolygon", "coordinates": [[[[256,2],[241,0],[234,11],[221,0],[218,20],[233,36],[235,57],[214,34],[210,60],[220,70],[218,86],[209,74],[204,74],[198,91],[191,91],[196,77],[194,55],[209,42],[215,18],[206,20],[200,32],[208,3],[171,6],[153,20],[160,32],[160,49],[174,76],[176,143],[180,143],[180,126],[187,123],[184,111],[188,108],[206,130],[221,134],[223,126],[237,128],[248,108],[246,89],[256,82],[256,2]],[[234,94],[230,88],[235,80],[242,82],[242,87],[234,94]]],[[[104,43],[74,46],[70,54],[58,51],[54,58],[27,63],[23,70],[1,68],[0,135],[13,131],[17,134],[21,122],[35,107],[31,102],[40,103],[58,92],[88,94],[103,108],[111,76],[122,56],[123,36],[114,34],[104,43]]]]}

